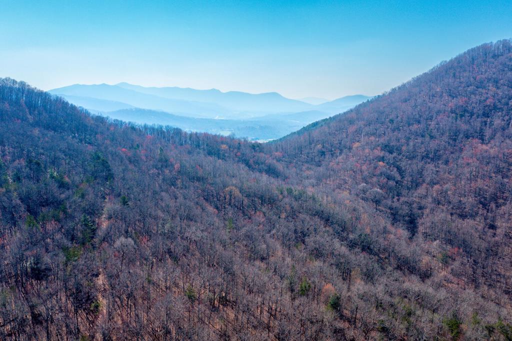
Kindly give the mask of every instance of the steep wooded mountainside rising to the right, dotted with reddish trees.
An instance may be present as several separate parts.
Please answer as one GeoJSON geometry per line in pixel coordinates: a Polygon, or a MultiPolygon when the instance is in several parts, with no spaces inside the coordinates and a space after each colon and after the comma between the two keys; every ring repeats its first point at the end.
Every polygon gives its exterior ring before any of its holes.
{"type": "Polygon", "coordinates": [[[447,285],[512,297],[512,44],[486,44],[270,146],[313,187],[373,203],[447,285]]]}

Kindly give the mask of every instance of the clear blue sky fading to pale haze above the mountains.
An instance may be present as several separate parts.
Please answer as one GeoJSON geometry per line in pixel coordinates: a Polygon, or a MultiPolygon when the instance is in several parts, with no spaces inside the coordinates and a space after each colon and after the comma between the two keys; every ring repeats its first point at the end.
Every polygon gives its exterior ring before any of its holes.
{"type": "Polygon", "coordinates": [[[0,0],[0,77],[374,95],[512,37],[511,14],[511,0],[0,0]]]}

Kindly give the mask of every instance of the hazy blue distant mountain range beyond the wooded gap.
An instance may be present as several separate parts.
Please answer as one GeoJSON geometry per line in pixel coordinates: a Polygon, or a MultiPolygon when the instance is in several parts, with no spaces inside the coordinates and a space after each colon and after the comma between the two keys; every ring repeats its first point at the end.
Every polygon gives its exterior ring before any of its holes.
{"type": "Polygon", "coordinates": [[[74,84],[49,92],[113,119],[253,140],[283,137],[371,98],[354,95],[333,101],[321,98],[300,101],[275,92],[250,94],[217,89],[146,88],[129,83],[74,84]]]}

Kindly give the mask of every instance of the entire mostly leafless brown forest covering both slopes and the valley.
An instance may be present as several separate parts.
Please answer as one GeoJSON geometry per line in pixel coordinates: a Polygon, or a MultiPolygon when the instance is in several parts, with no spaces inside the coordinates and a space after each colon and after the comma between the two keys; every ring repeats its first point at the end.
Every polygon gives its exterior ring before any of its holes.
{"type": "Polygon", "coordinates": [[[267,144],[0,79],[0,339],[512,339],[512,42],[267,144]]]}

